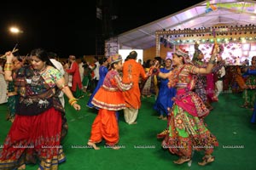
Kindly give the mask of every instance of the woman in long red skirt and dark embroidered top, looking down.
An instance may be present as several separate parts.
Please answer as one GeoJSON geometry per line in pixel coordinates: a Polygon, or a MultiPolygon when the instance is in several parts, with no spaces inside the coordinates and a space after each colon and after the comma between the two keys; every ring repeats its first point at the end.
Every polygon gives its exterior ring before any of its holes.
{"type": "Polygon", "coordinates": [[[4,76],[14,81],[19,94],[15,121],[0,152],[0,169],[26,169],[26,163],[39,164],[38,170],[58,169],[65,161],[61,139],[67,133],[67,120],[58,95],[67,95],[77,111],[80,105],[65,85],[61,72],[55,69],[44,49],[32,50],[30,65],[12,76],[14,55],[6,53],[4,76]]]}

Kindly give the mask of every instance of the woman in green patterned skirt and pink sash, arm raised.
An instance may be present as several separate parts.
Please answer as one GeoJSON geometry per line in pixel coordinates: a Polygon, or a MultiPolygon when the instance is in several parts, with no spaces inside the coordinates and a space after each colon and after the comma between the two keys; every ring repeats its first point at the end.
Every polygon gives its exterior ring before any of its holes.
{"type": "Polygon", "coordinates": [[[214,161],[213,147],[218,146],[218,141],[207,129],[203,117],[209,110],[201,98],[192,89],[195,87],[195,74],[207,74],[212,71],[215,63],[214,48],[207,68],[199,68],[186,62],[187,53],[177,49],[173,54],[173,65],[176,68],[169,73],[159,73],[159,77],[169,77],[169,86],[177,88],[174,104],[169,113],[168,134],[162,142],[162,147],[169,149],[172,154],[179,156],[176,164],[190,161],[193,150],[204,150],[205,156],[199,165],[204,166],[214,161]]]}

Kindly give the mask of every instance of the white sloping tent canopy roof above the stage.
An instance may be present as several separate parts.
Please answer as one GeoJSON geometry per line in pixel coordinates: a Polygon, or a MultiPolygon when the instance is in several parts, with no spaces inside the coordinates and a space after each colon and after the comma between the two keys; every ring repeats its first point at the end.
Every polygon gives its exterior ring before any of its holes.
{"type": "MultiPolygon", "coordinates": [[[[225,26],[256,25],[255,3],[252,0],[203,1],[160,20],[126,31],[114,39],[118,43],[118,48],[147,49],[156,45],[155,31],[163,29],[166,31],[185,28],[198,29],[221,24],[225,26]],[[213,10],[209,10],[211,7],[213,10]]],[[[113,40],[113,38],[111,39],[113,40]]],[[[111,40],[107,42],[111,42],[111,40]]]]}

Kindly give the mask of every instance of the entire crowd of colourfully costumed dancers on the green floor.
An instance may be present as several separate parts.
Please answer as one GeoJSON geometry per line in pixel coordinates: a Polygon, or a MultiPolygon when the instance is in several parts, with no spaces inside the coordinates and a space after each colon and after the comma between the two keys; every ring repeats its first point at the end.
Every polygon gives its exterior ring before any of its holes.
{"type": "MultiPolygon", "coordinates": [[[[159,119],[167,120],[166,129],[157,138],[163,139],[164,149],[179,156],[173,162],[183,164],[191,160],[195,150],[204,150],[198,164],[211,163],[218,140],[205,126],[204,118],[223,91],[222,52],[223,48],[214,44],[211,58],[205,62],[195,43],[193,59],[177,48],[172,58],[149,59],[147,65],[137,62],[136,51],[131,51],[124,63],[116,54],[95,57],[93,63],[82,59],[80,64],[74,55],[61,63],[55,53],[42,48],[33,49],[25,58],[7,52],[0,66],[0,104],[6,103],[12,126],[0,152],[0,169],[26,169],[26,163],[31,162],[39,162],[38,169],[57,169],[66,161],[64,151],[46,146],[60,146],[67,135],[64,95],[79,111],[78,100],[88,94],[86,106],[98,110],[87,143],[93,149],[100,150],[96,144],[105,140],[109,148],[118,150],[119,111],[124,111],[127,125],[137,124],[141,98],[154,94],[152,108],[159,119]]],[[[256,57],[240,72],[235,80],[243,89],[241,106],[254,108],[255,122],[256,57]]]]}

